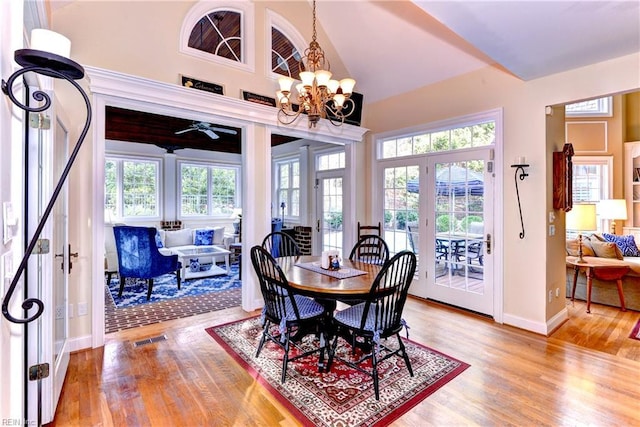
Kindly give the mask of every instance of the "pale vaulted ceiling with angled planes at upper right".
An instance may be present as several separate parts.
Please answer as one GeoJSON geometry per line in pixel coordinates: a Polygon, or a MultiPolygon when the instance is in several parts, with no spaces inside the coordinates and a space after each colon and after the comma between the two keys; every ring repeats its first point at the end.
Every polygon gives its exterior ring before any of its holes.
{"type": "Polygon", "coordinates": [[[365,104],[488,65],[531,80],[640,51],[636,0],[317,0],[317,15],[365,104]]]}

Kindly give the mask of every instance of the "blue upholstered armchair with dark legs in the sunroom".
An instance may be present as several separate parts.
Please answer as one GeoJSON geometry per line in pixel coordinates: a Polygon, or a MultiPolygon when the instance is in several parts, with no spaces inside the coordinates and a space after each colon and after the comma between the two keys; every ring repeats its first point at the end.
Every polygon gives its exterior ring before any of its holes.
{"type": "Polygon", "coordinates": [[[153,278],[167,273],[176,273],[180,289],[180,263],[178,255],[162,255],[156,244],[154,227],[115,226],[113,233],[118,252],[118,273],[122,296],[125,278],[146,279],[149,283],[147,299],[151,298],[153,278]]]}

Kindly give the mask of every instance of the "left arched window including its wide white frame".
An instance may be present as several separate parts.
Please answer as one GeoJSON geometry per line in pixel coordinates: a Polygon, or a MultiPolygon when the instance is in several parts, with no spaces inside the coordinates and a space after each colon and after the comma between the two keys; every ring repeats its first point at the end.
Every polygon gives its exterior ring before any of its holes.
{"type": "Polygon", "coordinates": [[[182,23],[180,51],[254,71],[254,9],[249,2],[199,2],[182,23]]]}

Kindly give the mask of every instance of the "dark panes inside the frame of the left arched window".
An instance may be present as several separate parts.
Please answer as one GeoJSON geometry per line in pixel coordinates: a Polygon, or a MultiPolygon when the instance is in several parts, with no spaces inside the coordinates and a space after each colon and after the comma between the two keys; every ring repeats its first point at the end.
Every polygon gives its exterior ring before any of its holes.
{"type": "Polygon", "coordinates": [[[191,30],[188,46],[242,62],[242,15],[217,10],[200,18],[191,30]]]}

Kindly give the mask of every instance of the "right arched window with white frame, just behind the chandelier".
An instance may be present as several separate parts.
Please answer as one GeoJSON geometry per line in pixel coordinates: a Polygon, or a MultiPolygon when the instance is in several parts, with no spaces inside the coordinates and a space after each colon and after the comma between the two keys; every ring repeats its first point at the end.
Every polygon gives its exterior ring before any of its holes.
{"type": "Polygon", "coordinates": [[[300,74],[300,58],[304,54],[305,41],[293,25],[282,16],[267,9],[267,24],[271,34],[267,41],[271,58],[268,75],[277,78],[278,75],[289,76],[294,79],[300,74]]]}

